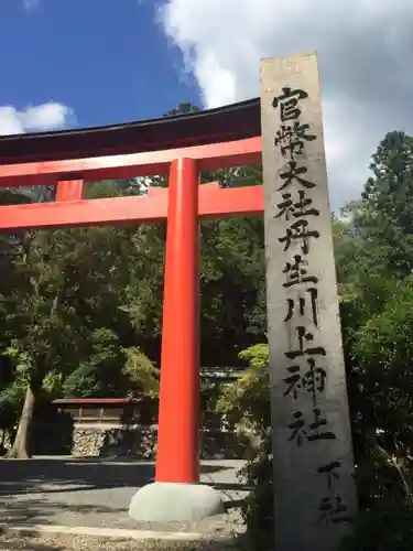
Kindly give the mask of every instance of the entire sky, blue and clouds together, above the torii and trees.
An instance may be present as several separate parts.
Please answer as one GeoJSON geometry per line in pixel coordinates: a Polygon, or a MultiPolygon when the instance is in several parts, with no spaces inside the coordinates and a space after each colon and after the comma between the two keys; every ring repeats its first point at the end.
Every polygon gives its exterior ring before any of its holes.
{"type": "Polygon", "coordinates": [[[0,0],[0,134],[257,97],[260,58],[315,50],[338,206],[413,134],[412,29],[412,0],[0,0]]]}

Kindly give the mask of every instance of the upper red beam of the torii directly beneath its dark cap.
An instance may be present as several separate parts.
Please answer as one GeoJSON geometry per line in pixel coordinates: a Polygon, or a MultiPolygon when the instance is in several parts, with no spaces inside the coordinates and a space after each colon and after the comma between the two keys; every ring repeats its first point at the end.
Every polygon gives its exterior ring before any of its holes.
{"type": "Polygon", "coordinates": [[[4,164],[0,166],[0,187],[43,185],[45,176],[65,180],[70,175],[83,180],[98,181],[167,174],[170,164],[175,159],[183,158],[197,160],[199,171],[258,164],[261,162],[261,138],[146,153],[4,164]]]}

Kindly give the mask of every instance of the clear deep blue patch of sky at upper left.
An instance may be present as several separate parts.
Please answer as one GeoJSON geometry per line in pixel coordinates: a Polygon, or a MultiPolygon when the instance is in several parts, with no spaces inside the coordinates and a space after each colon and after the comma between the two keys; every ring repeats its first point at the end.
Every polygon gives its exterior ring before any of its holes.
{"type": "Polygon", "coordinates": [[[55,101],[88,127],[200,101],[153,0],[1,0],[0,41],[0,106],[55,101]]]}

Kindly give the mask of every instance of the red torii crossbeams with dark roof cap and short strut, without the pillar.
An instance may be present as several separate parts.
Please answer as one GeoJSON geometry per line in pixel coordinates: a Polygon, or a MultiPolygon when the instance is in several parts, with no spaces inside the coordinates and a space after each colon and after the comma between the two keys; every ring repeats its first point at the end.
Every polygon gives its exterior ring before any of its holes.
{"type": "MultiPolygon", "coordinates": [[[[167,174],[176,159],[198,171],[261,162],[258,99],[112,127],[3,137],[0,187],[57,185],[56,202],[1,207],[0,230],[156,222],[167,197],[83,199],[83,182],[167,174]],[[132,152],[133,151],[133,152],[132,152]],[[63,202],[70,204],[63,205],[63,202]],[[72,203],[76,201],[75,203],[72,203]]],[[[263,210],[262,188],[200,188],[199,217],[263,210]]]]}

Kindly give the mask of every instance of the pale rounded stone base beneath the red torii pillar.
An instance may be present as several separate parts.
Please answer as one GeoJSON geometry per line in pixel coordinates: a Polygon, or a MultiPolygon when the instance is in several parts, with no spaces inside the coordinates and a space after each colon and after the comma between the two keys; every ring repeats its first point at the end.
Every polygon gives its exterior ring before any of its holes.
{"type": "Polygon", "coordinates": [[[129,516],[141,522],[195,521],[222,512],[218,491],[204,484],[148,484],[137,491],[129,506],[129,516]]]}

